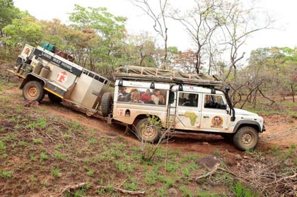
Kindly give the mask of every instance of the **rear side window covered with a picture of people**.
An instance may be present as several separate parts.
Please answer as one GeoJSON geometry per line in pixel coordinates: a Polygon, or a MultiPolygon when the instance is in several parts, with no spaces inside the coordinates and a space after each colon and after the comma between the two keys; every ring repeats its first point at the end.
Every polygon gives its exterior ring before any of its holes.
{"type": "Polygon", "coordinates": [[[151,105],[165,105],[166,95],[166,90],[121,86],[119,87],[117,94],[117,101],[151,105]]]}

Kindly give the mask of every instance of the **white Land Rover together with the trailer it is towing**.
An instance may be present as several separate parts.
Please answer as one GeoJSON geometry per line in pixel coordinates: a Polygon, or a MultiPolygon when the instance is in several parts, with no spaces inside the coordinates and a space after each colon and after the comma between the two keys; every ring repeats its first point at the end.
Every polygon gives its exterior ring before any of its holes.
{"type": "Polygon", "coordinates": [[[25,45],[10,72],[23,78],[20,88],[27,101],[67,101],[88,116],[123,122],[139,140],[158,142],[165,131],[211,133],[233,140],[239,150],[255,148],[265,131],[261,116],[235,109],[224,83],[208,75],[174,70],[121,66],[110,81],[71,62],[73,57],[55,46],[25,45]]]}

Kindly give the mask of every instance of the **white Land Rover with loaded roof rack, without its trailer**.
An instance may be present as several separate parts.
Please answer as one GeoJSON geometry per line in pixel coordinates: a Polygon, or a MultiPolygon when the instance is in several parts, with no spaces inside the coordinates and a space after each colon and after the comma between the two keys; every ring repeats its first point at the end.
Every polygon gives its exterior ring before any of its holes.
{"type": "Polygon", "coordinates": [[[115,77],[113,102],[109,93],[102,97],[104,114],[112,110],[110,117],[131,125],[140,140],[158,142],[170,129],[219,134],[233,138],[239,150],[248,150],[265,131],[263,118],[234,109],[228,88],[218,90],[223,83],[213,77],[138,66],[121,67],[115,77]],[[158,125],[152,124],[152,117],[158,125]]]}

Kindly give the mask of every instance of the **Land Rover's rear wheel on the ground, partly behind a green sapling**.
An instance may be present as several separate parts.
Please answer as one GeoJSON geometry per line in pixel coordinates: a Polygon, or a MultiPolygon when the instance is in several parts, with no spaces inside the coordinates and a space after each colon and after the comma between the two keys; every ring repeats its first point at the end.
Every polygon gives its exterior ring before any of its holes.
{"type": "Polygon", "coordinates": [[[160,124],[150,123],[149,118],[144,118],[136,124],[136,135],[144,142],[157,142],[161,137],[160,124]]]}

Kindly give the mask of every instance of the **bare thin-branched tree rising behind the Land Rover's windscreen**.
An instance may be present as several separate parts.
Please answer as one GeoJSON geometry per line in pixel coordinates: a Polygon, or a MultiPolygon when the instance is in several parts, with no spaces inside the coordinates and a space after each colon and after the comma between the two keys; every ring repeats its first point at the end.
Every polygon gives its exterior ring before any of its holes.
{"type": "MultiPolygon", "coordinates": [[[[252,2],[254,3],[254,2],[252,2]]],[[[240,0],[234,0],[231,3],[224,3],[224,23],[222,29],[224,31],[224,38],[226,44],[230,48],[230,66],[226,73],[225,80],[228,79],[232,69],[234,68],[235,79],[237,74],[237,63],[243,59],[245,52],[243,51],[239,55],[239,49],[246,42],[248,36],[256,31],[263,29],[269,29],[272,25],[270,16],[265,14],[261,16],[265,21],[263,24],[257,21],[259,16],[259,9],[253,7],[254,5],[248,5],[247,3],[241,3],[240,0]]]]}

